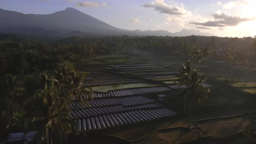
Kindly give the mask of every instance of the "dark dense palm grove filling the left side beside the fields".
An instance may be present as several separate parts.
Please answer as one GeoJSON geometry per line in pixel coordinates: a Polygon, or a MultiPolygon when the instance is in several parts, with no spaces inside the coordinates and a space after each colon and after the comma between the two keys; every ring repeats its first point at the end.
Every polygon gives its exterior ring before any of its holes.
{"type": "Polygon", "coordinates": [[[6,36],[0,40],[0,140],[8,133],[37,131],[37,140],[59,142],[75,131],[70,103],[86,106],[82,95],[92,97],[92,89],[82,85],[86,75],[71,62],[76,56],[90,58],[92,45],[6,36]]]}

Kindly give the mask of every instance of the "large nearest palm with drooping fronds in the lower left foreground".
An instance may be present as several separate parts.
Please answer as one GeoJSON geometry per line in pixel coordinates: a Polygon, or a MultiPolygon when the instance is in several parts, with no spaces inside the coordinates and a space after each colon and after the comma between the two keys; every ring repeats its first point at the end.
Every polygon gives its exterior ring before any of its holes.
{"type": "MultiPolygon", "coordinates": [[[[69,103],[63,98],[59,82],[54,79],[48,79],[43,90],[36,91],[33,100],[30,100],[30,115],[33,126],[41,137],[41,141],[47,144],[53,144],[52,134],[62,137],[62,134],[68,134],[74,129],[74,121],[69,119],[69,103]],[[31,105],[34,107],[31,109],[31,105]]],[[[30,125],[27,126],[28,128],[30,125]]]]}

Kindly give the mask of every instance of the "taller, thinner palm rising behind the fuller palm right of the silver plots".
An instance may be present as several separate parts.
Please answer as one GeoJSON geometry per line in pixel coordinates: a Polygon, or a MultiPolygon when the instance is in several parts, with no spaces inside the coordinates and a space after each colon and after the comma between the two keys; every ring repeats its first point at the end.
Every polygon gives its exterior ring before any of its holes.
{"type": "MultiPolygon", "coordinates": [[[[181,75],[181,78],[178,79],[177,85],[181,86],[181,85],[187,85],[188,83],[188,74],[190,74],[192,70],[192,65],[190,64],[190,61],[187,61],[187,64],[184,65],[183,63],[181,64],[181,67],[179,69],[177,69],[177,72],[181,75]]],[[[186,114],[186,108],[187,108],[187,97],[185,95],[184,97],[184,114],[186,114]]]]}

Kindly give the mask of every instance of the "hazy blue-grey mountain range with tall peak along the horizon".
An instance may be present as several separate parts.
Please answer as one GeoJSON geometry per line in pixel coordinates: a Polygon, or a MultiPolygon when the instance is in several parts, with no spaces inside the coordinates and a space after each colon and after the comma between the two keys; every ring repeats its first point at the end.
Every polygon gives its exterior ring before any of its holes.
{"type": "Polygon", "coordinates": [[[111,26],[74,8],[51,14],[23,14],[0,9],[0,33],[47,36],[213,36],[194,30],[126,30],[111,26]]]}

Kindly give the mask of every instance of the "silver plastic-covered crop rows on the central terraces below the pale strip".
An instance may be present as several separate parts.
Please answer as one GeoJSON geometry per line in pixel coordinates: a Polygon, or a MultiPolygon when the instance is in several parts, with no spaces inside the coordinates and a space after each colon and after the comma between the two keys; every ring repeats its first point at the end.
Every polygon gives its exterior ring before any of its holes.
{"type": "MultiPolygon", "coordinates": [[[[210,87],[207,84],[203,85],[210,87]]],[[[79,102],[70,105],[72,110],[70,118],[75,119],[77,108],[78,131],[93,131],[171,117],[177,113],[144,95],[159,95],[176,89],[181,90],[184,87],[184,85],[181,87],[167,85],[94,92],[94,100],[90,101],[90,107],[83,108],[79,102]]]]}

